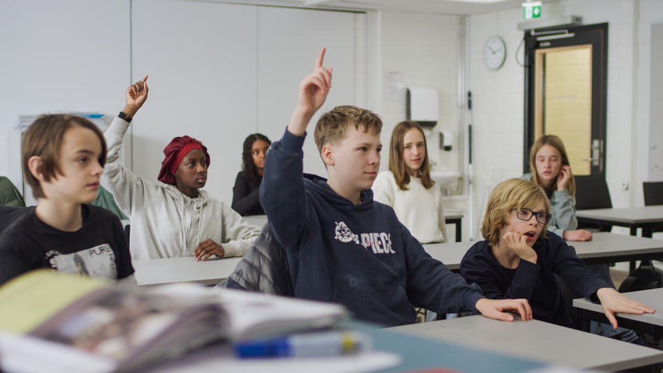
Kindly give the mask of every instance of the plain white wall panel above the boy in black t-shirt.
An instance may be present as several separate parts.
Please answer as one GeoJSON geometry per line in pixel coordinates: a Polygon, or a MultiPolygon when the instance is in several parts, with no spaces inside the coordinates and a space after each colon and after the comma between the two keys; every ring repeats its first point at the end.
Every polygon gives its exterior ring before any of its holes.
{"type": "Polygon", "coordinates": [[[8,152],[19,115],[122,109],[129,0],[0,1],[0,15],[0,175],[20,189],[20,156],[8,152]]]}

